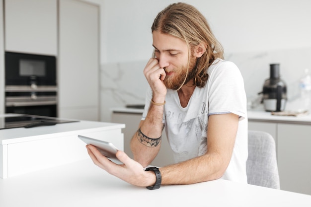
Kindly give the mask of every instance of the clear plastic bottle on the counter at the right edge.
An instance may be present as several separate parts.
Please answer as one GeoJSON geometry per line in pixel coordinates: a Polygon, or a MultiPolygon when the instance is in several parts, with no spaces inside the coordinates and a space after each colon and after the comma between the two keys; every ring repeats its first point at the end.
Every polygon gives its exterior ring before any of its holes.
{"type": "Polygon", "coordinates": [[[300,79],[300,98],[301,108],[303,110],[311,111],[311,71],[309,69],[304,70],[304,74],[300,79]]]}

